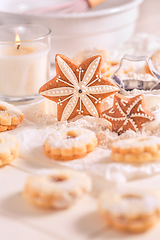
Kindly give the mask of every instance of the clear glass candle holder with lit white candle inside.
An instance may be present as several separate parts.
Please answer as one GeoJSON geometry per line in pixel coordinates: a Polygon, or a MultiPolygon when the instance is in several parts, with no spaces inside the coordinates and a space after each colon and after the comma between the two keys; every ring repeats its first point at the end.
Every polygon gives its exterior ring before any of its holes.
{"type": "Polygon", "coordinates": [[[0,99],[33,100],[49,80],[50,33],[47,27],[25,24],[0,27],[0,99]]]}

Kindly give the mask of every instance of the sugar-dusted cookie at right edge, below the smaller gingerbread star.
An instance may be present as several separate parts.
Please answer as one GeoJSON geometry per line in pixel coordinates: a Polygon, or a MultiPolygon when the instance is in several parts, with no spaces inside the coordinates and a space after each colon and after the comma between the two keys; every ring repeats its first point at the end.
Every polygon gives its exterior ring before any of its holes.
{"type": "Polygon", "coordinates": [[[147,163],[160,159],[160,138],[156,136],[124,139],[112,144],[111,157],[117,162],[147,163]]]}

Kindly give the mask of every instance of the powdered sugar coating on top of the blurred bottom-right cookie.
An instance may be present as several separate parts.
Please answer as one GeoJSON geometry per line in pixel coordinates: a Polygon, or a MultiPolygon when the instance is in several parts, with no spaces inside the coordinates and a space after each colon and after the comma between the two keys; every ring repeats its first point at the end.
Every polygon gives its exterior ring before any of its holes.
{"type": "Polygon", "coordinates": [[[114,216],[138,218],[142,215],[153,214],[159,210],[159,195],[157,192],[144,189],[116,189],[104,192],[100,196],[102,210],[114,216]]]}

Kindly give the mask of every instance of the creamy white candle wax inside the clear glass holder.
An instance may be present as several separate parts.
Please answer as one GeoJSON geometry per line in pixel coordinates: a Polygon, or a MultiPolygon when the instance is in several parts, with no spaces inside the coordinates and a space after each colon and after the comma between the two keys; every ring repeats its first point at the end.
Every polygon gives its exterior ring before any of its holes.
{"type": "Polygon", "coordinates": [[[0,48],[0,94],[20,97],[38,94],[49,76],[49,48],[34,42],[0,48]]]}

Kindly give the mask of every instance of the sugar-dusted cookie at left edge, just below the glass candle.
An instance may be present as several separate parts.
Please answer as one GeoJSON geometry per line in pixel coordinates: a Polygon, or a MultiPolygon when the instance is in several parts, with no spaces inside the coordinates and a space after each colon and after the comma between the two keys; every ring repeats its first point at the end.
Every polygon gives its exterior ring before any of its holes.
{"type": "Polygon", "coordinates": [[[0,101],[0,131],[15,128],[24,118],[21,110],[14,105],[0,101]]]}

